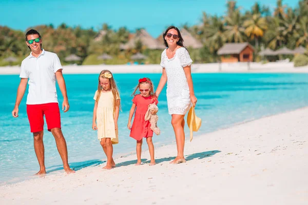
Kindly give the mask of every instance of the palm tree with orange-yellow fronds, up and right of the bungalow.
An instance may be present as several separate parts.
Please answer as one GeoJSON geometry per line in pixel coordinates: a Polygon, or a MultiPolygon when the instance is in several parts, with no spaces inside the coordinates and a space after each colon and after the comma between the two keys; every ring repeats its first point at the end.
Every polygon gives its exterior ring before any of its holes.
{"type": "Polygon", "coordinates": [[[267,29],[267,22],[260,13],[253,14],[251,19],[245,20],[243,26],[245,34],[251,39],[255,39],[255,46],[259,47],[259,37],[263,37],[264,31],[267,29]]]}

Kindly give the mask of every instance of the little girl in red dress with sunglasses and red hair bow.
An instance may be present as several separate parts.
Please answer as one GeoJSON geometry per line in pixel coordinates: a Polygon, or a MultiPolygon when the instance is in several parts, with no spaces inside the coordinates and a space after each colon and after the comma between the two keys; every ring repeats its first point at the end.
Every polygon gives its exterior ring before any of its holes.
{"type": "MultiPolygon", "coordinates": [[[[154,146],[152,142],[153,131],[150,129],[151,125],[149,121],[145,121],[144,116],[148,109],[148,105],[155,103],[158,104],[158,100],[154,95],[154,87],[150,78],[144,77],[139,79],[139,83],[132,93],[134,95],[132,99],[132,106],[129,112],[127,128],[130,130],[130,137],[137,140],[137,163],[136,165],[141,165],[141,147],[142,139],[145,137],[146,142],[149,147],[150,152],[150,163],[149,165],[155,165],[154,158],[154,146]],[[140,94],[136,94],[137,90],[140,94]],[[135,112],[136,110],[136,112],[135,112]],[[134,113],[134,119],[131,126],[131,118],[134,113]]],[[[151,110],[151,114],[156,114],[157,111],[151,110]]]]}

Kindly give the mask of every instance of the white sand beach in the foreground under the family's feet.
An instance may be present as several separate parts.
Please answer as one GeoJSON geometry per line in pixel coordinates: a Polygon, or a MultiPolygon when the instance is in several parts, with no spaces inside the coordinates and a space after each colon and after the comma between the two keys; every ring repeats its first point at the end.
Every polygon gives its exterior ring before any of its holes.
{"type": "Polygon", "coordinates": [[[112,170],[5,185],[0,204],[308,204],[307,121],[303,108],[197,136],[179,165],[169,164],[174,144],[156,149],[156,166],[134,166],[130,155],[112,170]]]}

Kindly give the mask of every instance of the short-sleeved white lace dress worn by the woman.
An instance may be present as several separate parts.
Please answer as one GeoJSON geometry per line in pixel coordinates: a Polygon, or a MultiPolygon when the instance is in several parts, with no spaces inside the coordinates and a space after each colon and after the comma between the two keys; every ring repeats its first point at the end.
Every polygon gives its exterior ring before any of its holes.
{"type": "Polygon", "coordinates": [[[188,51],[182,47],[168,59],[166,49],[162,53],[161,66],[167,73],[168,113],[185,115],[191,106],[189,88],[183,67],[191,65],[188,51]]]}

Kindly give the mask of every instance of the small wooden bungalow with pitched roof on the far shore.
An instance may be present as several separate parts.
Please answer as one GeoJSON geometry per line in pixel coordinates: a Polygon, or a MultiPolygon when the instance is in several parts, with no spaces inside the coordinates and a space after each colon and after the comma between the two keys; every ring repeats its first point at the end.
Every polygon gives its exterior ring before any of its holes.
{"type": "Polygon", "coordinates": [[[217,51],[221,63],[252,62],[254,48],[248,43],[228,43],[217,51]]]}

